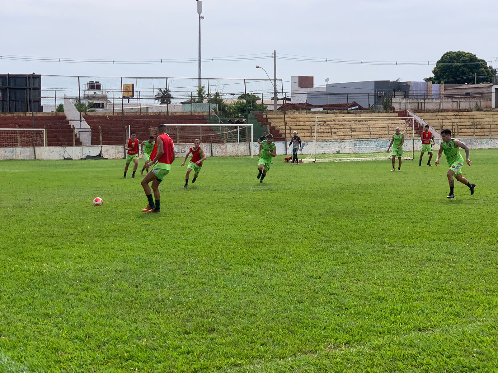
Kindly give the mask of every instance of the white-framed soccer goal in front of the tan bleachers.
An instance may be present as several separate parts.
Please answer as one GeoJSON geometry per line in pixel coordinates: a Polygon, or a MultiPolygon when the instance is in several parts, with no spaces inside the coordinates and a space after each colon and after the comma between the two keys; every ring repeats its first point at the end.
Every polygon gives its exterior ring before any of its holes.
{"type": "Polygon", "coordinates": [[[391,157],[387,147],[396,127],[405,137],[403,159],[414,156],[415,122],[411,117],[315,117],[310,154],[303,162],[364,161],[391,157]]]}

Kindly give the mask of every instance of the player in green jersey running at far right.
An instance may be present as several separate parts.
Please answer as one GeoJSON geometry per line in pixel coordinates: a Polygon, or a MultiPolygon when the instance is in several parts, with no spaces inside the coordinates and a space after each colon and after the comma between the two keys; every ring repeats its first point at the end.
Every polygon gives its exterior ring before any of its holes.
{"type": "Polygon", "coordinates": [[[470,184],[469,181],[462,175],[464,159],[458,149],[462,148],[465,150],[465,161],[469,166],[472,166],[472,162],[469,159],[469,148],[463,142],[452,138],[451,131],[449,129],[443,129],[441,131],[441,137],[443,138],[443,141],[441,142],[441,147],[439,148],[439,152],[437,154],[436,166],[439,165],[439,158],[444,151],[444,155],[448,161],[448,167],[450,168],[446,174],[448,177],[448,183],[450,184],[450,194],[446,198],[455,198],[455,194],[453,193],[455,181],[453,180],[453,177],[455,177],[460,183],[469,187],[471,195],[474,194],[474,188],[476,185],[470,184]]]}

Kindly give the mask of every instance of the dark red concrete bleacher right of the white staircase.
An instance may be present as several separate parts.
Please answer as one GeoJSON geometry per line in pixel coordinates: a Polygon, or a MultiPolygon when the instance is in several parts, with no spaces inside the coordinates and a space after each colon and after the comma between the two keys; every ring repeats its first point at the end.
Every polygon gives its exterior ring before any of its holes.
{"type": "Polygon", "coordinates": [[[216,127],[182,126],[182,124],[208,124],[203,114],[127,114],[121,113],[84,115],[86,122],[92,128],[92,144],[102,145],[124,144],[128,138],[128,126],[131,132],[136,132],[139,141],[148,139],[157,134],[157,126],[166,124],[168,134],[175,143],[193,142],[195,137],[202,137],[202,142],[224,142],[223,130],[216,127]]]}

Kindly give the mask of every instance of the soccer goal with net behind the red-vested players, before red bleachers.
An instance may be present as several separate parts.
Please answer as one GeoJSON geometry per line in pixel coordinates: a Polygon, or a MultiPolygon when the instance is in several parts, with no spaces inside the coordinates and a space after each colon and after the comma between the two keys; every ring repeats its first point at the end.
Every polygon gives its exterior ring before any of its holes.
{"type": "MultiPolygon", "coordinates": [[[[206,153],[211,155],[246,155],[253,156],[252,124],[167,124],[166,132],[173,139],[175,146],[187,149],[196,139],[204,144],[206,153]],[[225,146],[220,146],[226,144],[225,146]]],[[[128,132],[135,131],[137,137],[146,140],[157,136],[157,125],[130,126],[128,132]]]]}

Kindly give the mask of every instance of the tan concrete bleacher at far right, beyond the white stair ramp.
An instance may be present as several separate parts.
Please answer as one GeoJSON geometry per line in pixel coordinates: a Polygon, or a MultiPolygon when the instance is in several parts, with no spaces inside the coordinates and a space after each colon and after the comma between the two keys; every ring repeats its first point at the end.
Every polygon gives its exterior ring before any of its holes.
{"type": "Polygon", "coordinates": [[[450,129],[453,137],[498,137],[498,111],[416,113],[435,130],[450,129]]]}

